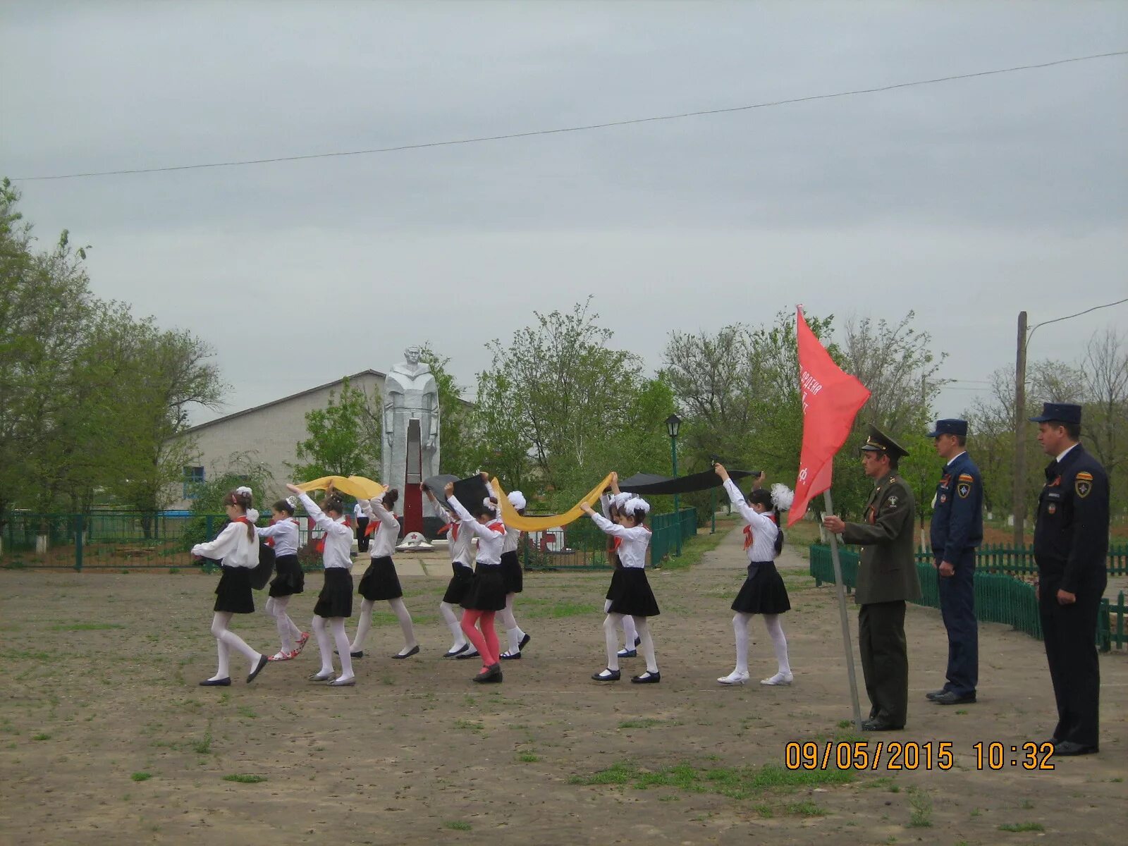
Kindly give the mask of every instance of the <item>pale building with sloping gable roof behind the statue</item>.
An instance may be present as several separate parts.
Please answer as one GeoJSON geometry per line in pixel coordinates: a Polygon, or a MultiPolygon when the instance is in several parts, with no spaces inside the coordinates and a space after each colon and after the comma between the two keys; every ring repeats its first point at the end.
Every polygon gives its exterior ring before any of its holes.
{"type": "MultiPolygon", "coordinates": [[[[377,407],[380,407],[384,403],[384,377],[379,370],[362,370],[350,376],[349,382],[370,397],[379,397],[377,407]]],[[[337,379],[318,385],[316,388],[188,429],[179,437],[195,440],[197,457],[194,464],[184,468],[185,484],[176,492],[179,500],[171,508],[188,508],[188,483],[203,481],[214,472],[226,472],[230,457],[237,453],[246,453],[253,460],[266,465],[274,476],[277,490],[256,492],[265,497],[258,499],[259,503],[281,496],[284,493],[282,485],[291,475],[288,465],[298,464],[296,447],[299,441],[309,438],[306,413],[328,407],[329,394],[340,396],[343,381],[344,379],[337,379]]]]}

